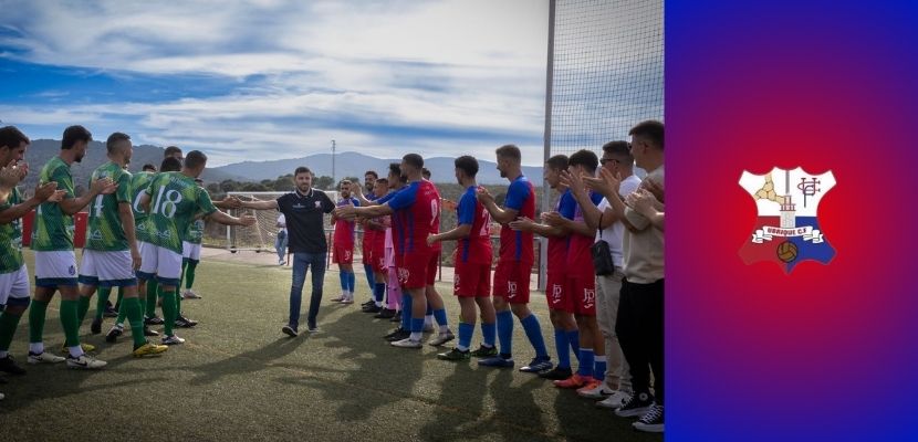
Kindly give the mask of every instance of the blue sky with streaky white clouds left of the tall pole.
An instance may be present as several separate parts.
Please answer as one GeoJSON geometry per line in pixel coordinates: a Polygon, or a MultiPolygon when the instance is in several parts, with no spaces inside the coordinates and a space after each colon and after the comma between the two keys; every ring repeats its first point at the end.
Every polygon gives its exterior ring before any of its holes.
{"type": "Polygon", "coordinates": [[[542,158],[546,0],[0,0],[0,119],[31,138],[542,158]],[[529,151],[532,155],[526,155],[529,151]]]}

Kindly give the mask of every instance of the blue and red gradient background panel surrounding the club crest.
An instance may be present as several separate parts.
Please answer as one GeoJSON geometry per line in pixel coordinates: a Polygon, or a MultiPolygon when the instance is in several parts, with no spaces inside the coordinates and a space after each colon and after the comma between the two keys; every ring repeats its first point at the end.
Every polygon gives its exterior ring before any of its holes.
{"type": "Polygon", "coordinates": [[[671,441],[918,440],[918,3],[666,4],[671,441]],[[738,181],[834,172],[828,265],[738,251],[738,181]]]}

